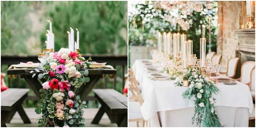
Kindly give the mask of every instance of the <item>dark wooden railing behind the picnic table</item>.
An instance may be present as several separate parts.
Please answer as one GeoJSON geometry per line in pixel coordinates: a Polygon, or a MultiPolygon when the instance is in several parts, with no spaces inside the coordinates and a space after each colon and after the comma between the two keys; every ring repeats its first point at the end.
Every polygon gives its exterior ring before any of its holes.
{"type": "MultiPolygon", "coordinates": [[[[114,69],[116,69],[117,67],[121,67],[121,75],[120,75],[120,71],[119,74],[116,74],[116,76],[119,76],[120,78],[122,78],[122,88],[124,88],[124,84],[125,84],[125,73],[127,73],[127,64],[128,64],[128,57],[127,55],[89,55],[89,54],[85,54],[82,55],[83,57],[85,57],[85,59],[88,59],[88,57],[92,57],[92,60],[95,62],[107,62],[107,65],[111,65],[113,66],[114,69]]],[[[39,62],[38,61],[38,57],[35,55],[31,55],[31,56],[9,56],[9,55],[2,55],[1,56],[1,68],[3,65],[8,65],[11,66],[12,64],[19,64],[20,62],[39,62]]],[[[103,78],[103,88],[107,88],[107,80],[106,78],[103,78]]],[[[7,82],[7,81],[5,81],[7,82]]],[[[10,80],[8,78],[8,85],[10,85],[10,80]]],[[[17,85],[15,85],[15,87],[19,87],[19,77],[17,78],[17,85]]],[[[114,78],[113,81],[113,85],[112,88],[116,89],[116,77],[114,78]]],[[[33,99],[35,97],[31,97],[31,99],[33,99]]],[[[95,100],[94,97],[88,97],[87,100],[95,100]]]]}

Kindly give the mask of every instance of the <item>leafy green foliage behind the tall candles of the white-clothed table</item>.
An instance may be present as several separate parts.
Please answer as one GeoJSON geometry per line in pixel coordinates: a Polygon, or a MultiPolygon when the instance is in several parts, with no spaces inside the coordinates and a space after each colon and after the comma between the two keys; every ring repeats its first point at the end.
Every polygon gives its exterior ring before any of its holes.
{"type": "MultiPolygon", "coordinates": [[[[217,5],[217,4],[216,4],[217,5]]],[[[129,15],[129,44],[130,45],[152,45],[150,40],[155,40],[156,43],[156,34],[158,32],[171,32],[177,33],[180,29],[180,33],[187,34],[187,40],[193,40],[193,52],[199,56],[199,40],[201,37],[201,25],[206,25],[206,41],[209,39],[209,30],[208,30],[208,20],[206,17],[212,17],[213,20],[216,20],[217,9],[215,7],[208,12],[195,12],[190,16],[187,16],[187,19],[192,21],[190,24],[190,29],[188,31],[183,31],[179,28],[178,24],[171,25],[168,21],[165,21],[163,17],[169,12],[164,11],[163,9],[156,9],[152,5],[148,4],[137,4],[135,9],[137,13],[130,13],[129,15]],[[142,20],[150,19],[145,21],[145,29],[142,30],[142,20]],[[143,31],[143,33],[142,33],[143,31]]],[[[205,8],[205,7],[204,7],[205,8]]],[[[181,12],[179,11],[181,14],[181,12]]],[[[211,50],[216,51],[216,42],[217,42],[217,33],[216,26],[212,23],[211,25],[211,50]]],[[[206,44],[209,43],[208,41],[206,44]]],[[[206,47],[208,51],[209,45],[206,47]]]]}

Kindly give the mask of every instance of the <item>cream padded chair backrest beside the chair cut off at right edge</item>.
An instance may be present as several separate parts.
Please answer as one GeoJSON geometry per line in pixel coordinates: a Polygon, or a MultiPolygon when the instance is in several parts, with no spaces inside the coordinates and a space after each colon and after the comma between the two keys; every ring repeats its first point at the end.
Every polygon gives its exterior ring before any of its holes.
{"type": "Polygon", "coordinates": [[[250,82],[251,69],[255,66],[254,61],[247,61],[241,67],[241,77],[240,81],[242,83],[248,84],[250,82]]]}

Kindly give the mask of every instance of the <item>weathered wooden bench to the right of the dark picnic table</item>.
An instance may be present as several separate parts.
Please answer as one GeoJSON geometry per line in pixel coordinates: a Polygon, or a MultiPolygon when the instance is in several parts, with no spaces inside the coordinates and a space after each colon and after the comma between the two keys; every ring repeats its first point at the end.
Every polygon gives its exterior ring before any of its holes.
{"type": "Polygon", "coordinates": [[[116,123],[118,127],[127,127],[127,97],[114,89],[93,89],[93,92],[102,106],[92,124],[98,124],[106,112],[111,123],[116,123]]]}

